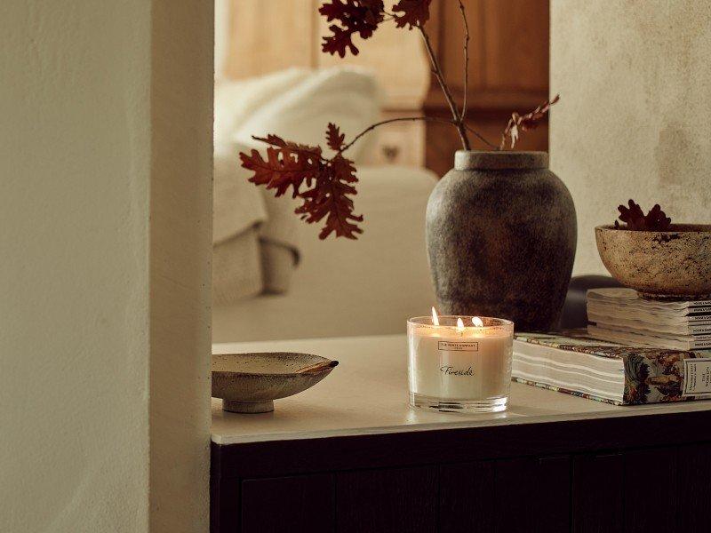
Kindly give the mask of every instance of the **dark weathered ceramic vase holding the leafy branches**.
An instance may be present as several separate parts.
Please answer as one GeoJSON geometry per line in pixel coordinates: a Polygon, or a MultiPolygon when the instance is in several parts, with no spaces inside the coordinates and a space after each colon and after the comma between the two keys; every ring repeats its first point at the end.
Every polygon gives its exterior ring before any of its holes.
{"type": "Polygon", "coordinates": [[[555,328],[577,234],[571,194],[545,152],[457,152],[427,203],[439,312],[555,328]]]}

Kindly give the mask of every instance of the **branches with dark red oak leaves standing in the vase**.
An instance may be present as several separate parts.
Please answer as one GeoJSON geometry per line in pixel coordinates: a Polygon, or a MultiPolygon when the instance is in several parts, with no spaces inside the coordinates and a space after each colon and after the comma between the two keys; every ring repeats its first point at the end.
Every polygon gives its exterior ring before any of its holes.
{"type": "MultiPolygon", "coordinates": [[[[394,20],[397,28],[416,28],[425,43],[427,55],[432,64],[432,73],[441,85],[444,98],[451,109],[451,120],[425,116],[393,118],[372,124],[348,143],[346,143],[345,135],[340,132],[339,127],[329,123],[326,129],[326,145],[335,152],[331,158],[324,157],[321,147],[289,142],[276,135],[268,135],[263,139],[254,138],[268,144],[266,159],[257,150],[252,150],[250,155],[240,154],[242,166],[253,172],[249,179],[252,183],[263,185],[268,189],[275,189],[277,196],[284,195],[292,188],[293,197],[300,198],[302,201],[295,210],[301,219],[308,223],[320,222],[325,219],[324,227],[319,235],[321,239],[325,239],[332,233],[335,233],[337,237],[356,239],[357,234],[363,233],[363,230],[358,226],[360,222],[363,222],[363,217],[353,213],[352,196],[356,195],[355,184],[358,181],[356,168],[353,162],[343,154],[358,139],[374,128],[385,123],[404,120],[445,122],[451,123],[457,128],[465,149],[470,149],[467,131],[474,133],[489,147],[496,148],[464,122],[466,99],[462,104],[462,111],[459,113],[430,38],[424,28],[430,17],[430,4],[432,4],[432,0],[398,0],[393,6],[393,12],[386,12],[383,0],[329,0],[324,2],[318,11],[332,24],[329,26],[331,35],[324,36],[322,49],[332,55],[338,54],[341,58],[345,57],[347,52],[357,55],[359,51],[356,44],[353,43],[353,36],[358,35],[362,39],[368,39],[385,20],[394,20]]],[[[467,78],[469,30],[464,4],[461,1],[459,1],[459,11],[465,26],[465,78],[467,78]]],[[[515,147],[520,131],[535,128],[540,119],[546,115],[548,108],[557,100],[556,96],[555,99],[536,107],[527,115],[522,116],[514,113],[502,135],[499,149],[505,146],[507,139],[511,140],[511,147],[515,147]]]]}

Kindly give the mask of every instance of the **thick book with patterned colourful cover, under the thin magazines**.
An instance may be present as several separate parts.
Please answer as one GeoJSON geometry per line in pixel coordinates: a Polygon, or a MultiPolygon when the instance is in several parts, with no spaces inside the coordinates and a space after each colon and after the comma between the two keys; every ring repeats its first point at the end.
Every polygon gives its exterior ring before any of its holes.
{"type": "Polygon", "coordinates": [[[586,330],[516,333],[513,378],[616,405],[701,400],[711,398],[711,351],[623,346],[586,330]]]}

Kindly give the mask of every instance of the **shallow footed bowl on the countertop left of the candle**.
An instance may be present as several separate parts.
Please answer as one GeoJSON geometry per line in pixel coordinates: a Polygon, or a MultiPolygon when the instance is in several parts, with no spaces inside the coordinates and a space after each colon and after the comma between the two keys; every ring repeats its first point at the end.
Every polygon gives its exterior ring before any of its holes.
{"type": "Polygon", "coordinates": [[[267,413],[274,401],[299,394],[339,362],[311,354],[213,354],[212,397],[233,413],[267,413]]]}

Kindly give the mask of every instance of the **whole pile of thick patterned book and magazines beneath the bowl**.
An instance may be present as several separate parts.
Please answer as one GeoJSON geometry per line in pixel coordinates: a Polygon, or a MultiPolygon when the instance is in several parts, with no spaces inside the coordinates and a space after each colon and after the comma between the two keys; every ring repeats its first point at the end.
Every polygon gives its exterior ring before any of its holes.
{"type": "Polygon", "coordinates": [[[711,398],[711,301],[587,292],[587,331],[518,333],[515,381],[618,405],[711,398]]]}

